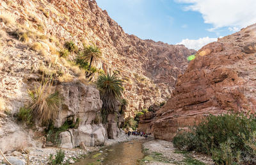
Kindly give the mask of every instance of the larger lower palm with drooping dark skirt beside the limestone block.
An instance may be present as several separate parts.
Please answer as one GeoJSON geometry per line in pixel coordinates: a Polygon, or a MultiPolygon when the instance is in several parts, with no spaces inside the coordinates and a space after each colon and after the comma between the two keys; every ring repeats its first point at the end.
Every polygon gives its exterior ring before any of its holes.
{"type": "Polygon", "coordinates": [[[97,88],[100,90],[100,97],[102,99],[102,118],[106,122],[106,117],[109,113],[114,113],[116,109],[117,99],[122,96],[122,81],[116,75],[109,73],[102,74],[97,80],[97,88]]]}

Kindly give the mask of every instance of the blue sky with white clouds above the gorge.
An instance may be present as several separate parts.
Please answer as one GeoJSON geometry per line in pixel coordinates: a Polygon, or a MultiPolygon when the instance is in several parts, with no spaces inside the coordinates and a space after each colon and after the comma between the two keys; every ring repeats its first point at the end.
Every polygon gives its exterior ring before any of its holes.
{"type": "Polygon", "coordinates": [[[255,0],[96,1],[126,33],[193,49],[256,22],[255,0]]]}

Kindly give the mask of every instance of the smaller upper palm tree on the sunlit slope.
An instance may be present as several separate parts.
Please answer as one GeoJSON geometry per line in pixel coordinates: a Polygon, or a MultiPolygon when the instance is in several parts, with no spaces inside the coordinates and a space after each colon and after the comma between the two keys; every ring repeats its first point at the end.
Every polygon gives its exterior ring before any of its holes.
{"type": "Polygon", "coordinates": [[[102,52],[100,51],[99,47],[93,43],[92,45],[88,45],[84,47],[84,50],[81,54],[81,58],[84,61],[88,61],[89,63],[89,70],[92,67],[93,61],[97,61],[98,59],[102,58],[102,52]]]}

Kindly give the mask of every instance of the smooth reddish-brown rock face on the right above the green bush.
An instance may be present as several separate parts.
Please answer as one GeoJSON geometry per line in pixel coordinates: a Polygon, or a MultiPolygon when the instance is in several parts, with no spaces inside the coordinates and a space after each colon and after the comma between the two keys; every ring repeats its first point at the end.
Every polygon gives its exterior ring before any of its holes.
{"type": "Polygon", "coordinates": [[[171,140],[205,115],[256,111],[256,24],[205,45],[157,111],[154,136],[171,140]]]}

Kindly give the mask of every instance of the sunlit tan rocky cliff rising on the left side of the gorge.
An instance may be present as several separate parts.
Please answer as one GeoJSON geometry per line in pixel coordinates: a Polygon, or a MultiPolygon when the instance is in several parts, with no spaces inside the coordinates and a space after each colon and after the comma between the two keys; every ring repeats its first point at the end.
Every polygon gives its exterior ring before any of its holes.
{"type": "MultiPolygon", "coordinates": [[[[90,42],[100,47],[103,58],[95,67],[124,80],[125,116],[168,98],[177,76],[188,65],[186,57],[195,53],[184,45],[126,34],[95,1],[0,0],[0,146],[4,151],[42,146],[44,136],[26,129],[15,117],[20,107],[28,104],[27,90],[38,86],[42,73],[56,76],[52,91],[59,91],[64,98],[55,126],[60,127],[67,118],[83,118],[76,130],[60,135],[63,147],[81,142],[104,144],[106,132],[95,122],[101,107],[99,91],[72,62],[76,54],[59,56],[68,41],[79,48],[90,42]]],[[[114,119],[108,118],[109,132],[117,129],[114,119]]],[[[111,132],[112,138],[117,135],[118,130],[111,132]]]]}

